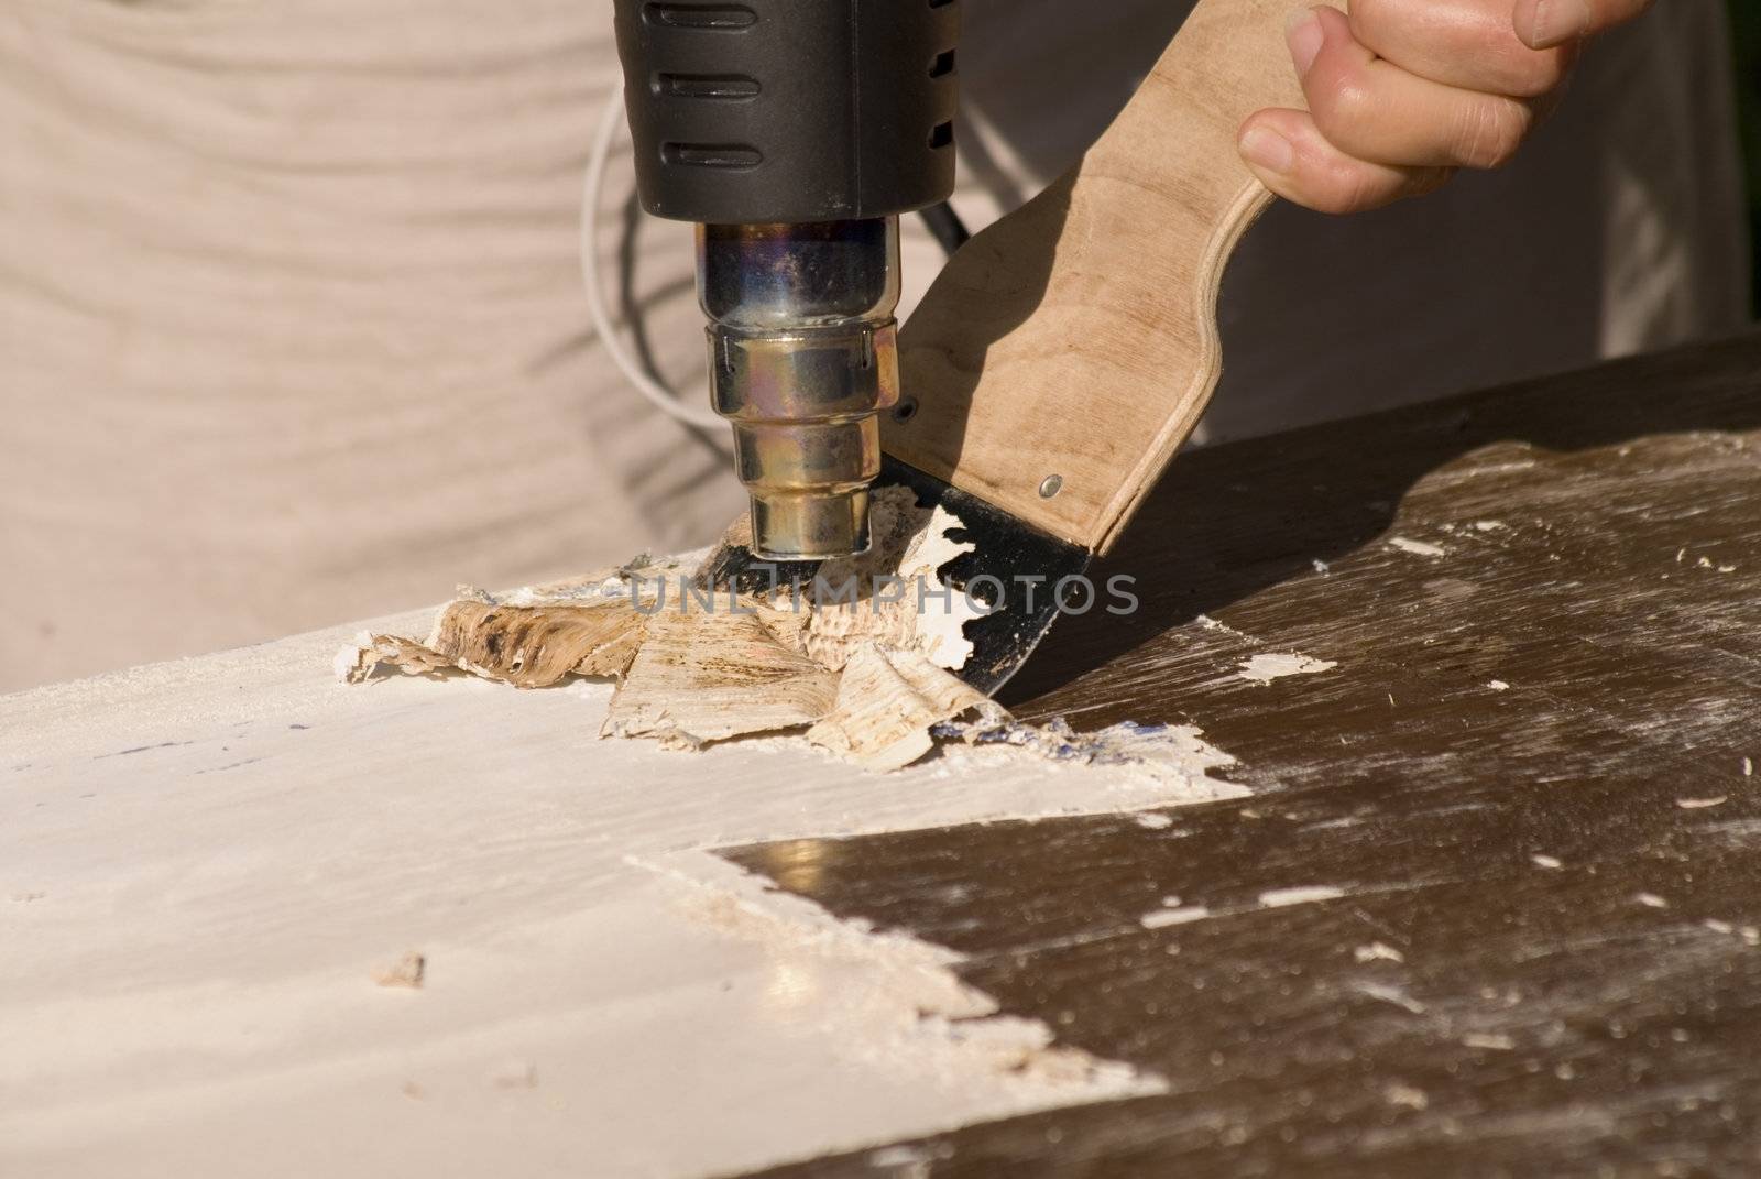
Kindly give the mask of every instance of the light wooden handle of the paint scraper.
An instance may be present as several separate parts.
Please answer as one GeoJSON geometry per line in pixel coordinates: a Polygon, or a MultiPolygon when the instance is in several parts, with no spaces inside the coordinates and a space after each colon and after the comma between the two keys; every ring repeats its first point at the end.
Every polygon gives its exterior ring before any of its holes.
{"type": "Polygon", "coordinates": [[[1062,539],[1116,539],[1222,372],[1217,287],[1271,201],[1236,132],[1303,106],[1287,12],[1201,2],[1081,162],[947,264],[900,335],[916,412],[882,425],[888,453],[1062,539]]]}

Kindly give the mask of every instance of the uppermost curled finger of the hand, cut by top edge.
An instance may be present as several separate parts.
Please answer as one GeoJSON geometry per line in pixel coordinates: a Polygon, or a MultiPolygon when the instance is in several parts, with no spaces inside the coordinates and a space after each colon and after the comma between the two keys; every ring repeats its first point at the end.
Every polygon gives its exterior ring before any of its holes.
{"type": "Polygon", "coordinates": [[[1352,0],[1351,35],[1419,78],[1525,99],[1558,88],[1578,53],[1523,44],[1511,0],[1352,0]]]}

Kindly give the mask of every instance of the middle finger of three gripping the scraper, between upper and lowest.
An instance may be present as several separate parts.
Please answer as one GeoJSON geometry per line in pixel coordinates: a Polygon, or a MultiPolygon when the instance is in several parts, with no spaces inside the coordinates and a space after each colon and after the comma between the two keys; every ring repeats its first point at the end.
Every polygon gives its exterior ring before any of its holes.
{"type": "Polygon", "coordinates": [[[1308,111],[1333,146],[1395,167],[1499,167],[1534,125],[1523,99],[1462,90],[1377,58],[1338,9],[1291,23],[1308,111]]]}

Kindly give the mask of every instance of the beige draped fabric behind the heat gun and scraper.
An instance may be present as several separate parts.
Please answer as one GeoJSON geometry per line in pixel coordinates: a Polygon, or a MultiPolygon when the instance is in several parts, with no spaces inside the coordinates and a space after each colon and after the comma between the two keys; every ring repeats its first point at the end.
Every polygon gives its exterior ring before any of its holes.
{"type": "MultiPolygon", "coordinates": [[[[1166,0],[967,0],[960,211],[1106,125],[1166,0]]],[[[1720,5],[1590,55],[1518,166],[1328,220],[1231,271],[1206,437],[1736,326],[1720,5]]],[[[724,439],[586,328],[581,171],[604,0],[0,5],[0,689],[268,640],[706,541],[724,439]]],[[[602,256],[701,388],[690,231],[615,164],[602,256]]],[[[937,252],[916,229],[907,287],[937,252]]]]}

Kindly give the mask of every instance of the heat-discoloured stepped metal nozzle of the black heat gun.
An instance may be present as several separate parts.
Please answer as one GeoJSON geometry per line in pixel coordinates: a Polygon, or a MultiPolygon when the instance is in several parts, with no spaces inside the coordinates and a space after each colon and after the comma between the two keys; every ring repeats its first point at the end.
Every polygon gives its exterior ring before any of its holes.
{"type": "Polygon", "coordinates": [[[754,552],[866,550],[877,414],[898,402],[898,219],[697,226],[697,300],[754,552]]]}

